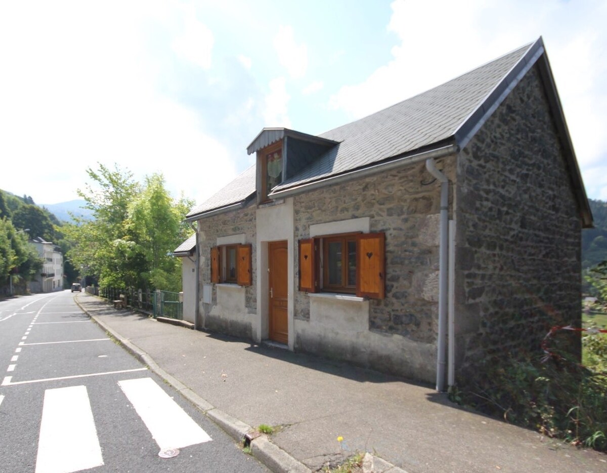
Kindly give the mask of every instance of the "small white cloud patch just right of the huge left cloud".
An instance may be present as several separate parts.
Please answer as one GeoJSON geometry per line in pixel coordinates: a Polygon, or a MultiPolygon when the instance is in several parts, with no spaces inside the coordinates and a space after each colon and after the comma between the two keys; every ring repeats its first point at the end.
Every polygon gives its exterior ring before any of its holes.
{"type": "Polygon", "coordinates": [[[205,24],[194,18],[193,9],[186,14],[184,21],[183,35],[173,41],[173,50],[181,58],[197,64],[203,69],[209,69],[214,42],[213,33],[205,24]]]}

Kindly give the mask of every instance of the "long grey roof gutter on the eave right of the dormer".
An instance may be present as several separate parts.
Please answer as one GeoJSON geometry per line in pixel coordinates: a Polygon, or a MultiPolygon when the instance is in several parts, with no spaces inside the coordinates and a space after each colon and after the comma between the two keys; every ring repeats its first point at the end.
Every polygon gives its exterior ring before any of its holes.
{"type": "Polygon", "coordinates": [[[331,176],[329,178],[320,179],[319,181],[305,182],[304,184],[289,187],[283,190],[277,190],[270,194],[272,198],[283,198],[299,195],[304,192],[310,192],[325,185],[342,184],[342,182],[353,181],[353,179],[361,179],[373,174],[390,171],[393,169],[400,168],[405,165],[415,164],[418,162],[426,161],[427,159],[440,158],[454,154],[459,151],[458,145],[447,145],[441,148],[435,148],[434,150],[423,151],[422,153],[412,154],[409,156],[399,157],[393,161],[382,162],[375,164],[370,167],[362,168],[348,173],[339,174],[337,176],[331,176]]]}

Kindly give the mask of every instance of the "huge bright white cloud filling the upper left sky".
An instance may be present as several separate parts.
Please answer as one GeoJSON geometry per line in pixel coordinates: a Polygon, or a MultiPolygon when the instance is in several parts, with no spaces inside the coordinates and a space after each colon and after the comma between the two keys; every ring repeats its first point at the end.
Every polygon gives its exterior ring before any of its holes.
{"type": "MultiPolygon", "coordinates": [[[[41,4],[35,16],[27,5],[0,9],[0,64],[9,71],[0,75],[0,188],[67,201],[84,188],[87,167],[116,162],[140,181],[161,172],[174,196],[203,201],[236,175],[234,159],[198,112],[155,88],[166,64],[143,46],[141,5],[120,15],[90,5],[41,4]]],[[[194,60],[208,64],[207,56],[194,60]]]]}

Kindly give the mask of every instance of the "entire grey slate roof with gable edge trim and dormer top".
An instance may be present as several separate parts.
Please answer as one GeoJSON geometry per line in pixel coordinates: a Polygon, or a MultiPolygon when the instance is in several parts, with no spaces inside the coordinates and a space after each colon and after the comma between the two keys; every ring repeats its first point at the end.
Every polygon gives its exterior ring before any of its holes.
{"type": "MultiPolygon", "coordinates": [[[[591,226],[592,213],[541,38],[443,85],[320,134],[317,138],[337,144],[308,167],[277,185],[270,196],[293,195],[310,183],[322,183],[325,179],[340,174],[383,165],[397,159],[406,160],[422,151],[438,150],[447,145],[452,145],[455,150],[457,147],[461,149],[536,63],[540,67],[559,136],[563,140],[584,224],[591,226]]],[[[265,128],[247,151],[253,153],[264,143],[296,133],[299,132],[286,128],[265,128]]],[[[300,135],[305,137],[305,134],[300,135]]],[[[256,171],[253,166],[211,199],[192,209],[188,219],[194,220],[197,216],[227,210],[231,205],[245,205],[254,196],[255,186],[256,171]]]]}

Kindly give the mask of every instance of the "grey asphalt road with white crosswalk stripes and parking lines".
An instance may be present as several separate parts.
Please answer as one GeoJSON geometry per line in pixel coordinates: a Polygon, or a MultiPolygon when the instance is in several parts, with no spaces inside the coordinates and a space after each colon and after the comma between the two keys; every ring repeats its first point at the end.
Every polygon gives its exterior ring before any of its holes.
{"type": "Polygon", "coordinates": [[[0,380],[4,473],[268,471],[115,344],[70,291],[0,302],[0,380]]]}

